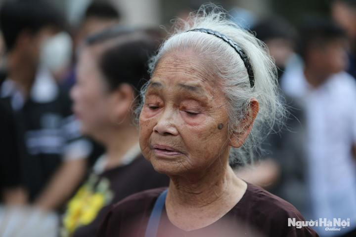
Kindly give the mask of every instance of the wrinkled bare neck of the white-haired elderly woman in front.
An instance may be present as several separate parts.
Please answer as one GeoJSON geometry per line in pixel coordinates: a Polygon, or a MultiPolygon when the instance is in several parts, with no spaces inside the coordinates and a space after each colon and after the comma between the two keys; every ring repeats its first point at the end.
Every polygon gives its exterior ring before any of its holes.
{"type": "Polygon", "coordinates": [[[217,168],[194,177],[171,177],[166,199],[170,221],[185,231],[210,225],[220,219],[244,195],[247,184],[220,160],[217,168]]]}

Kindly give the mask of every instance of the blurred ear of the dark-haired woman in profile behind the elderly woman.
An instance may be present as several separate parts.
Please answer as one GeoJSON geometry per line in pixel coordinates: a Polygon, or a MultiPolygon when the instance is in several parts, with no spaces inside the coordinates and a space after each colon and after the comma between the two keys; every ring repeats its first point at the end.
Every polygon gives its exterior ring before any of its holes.
{"type": "Polygon", "coordinates": [[[113,93],[114,117],[118,121],[125,118],[134,103],[134,89],[128,83],[120,85],[113,93]]]}

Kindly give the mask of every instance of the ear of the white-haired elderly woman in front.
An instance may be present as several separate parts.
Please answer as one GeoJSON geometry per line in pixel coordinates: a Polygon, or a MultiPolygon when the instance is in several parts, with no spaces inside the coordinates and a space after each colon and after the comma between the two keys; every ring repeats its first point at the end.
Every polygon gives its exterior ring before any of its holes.
{"type": "Polygon", "coordinates": [[[255,118],[259,112],[260,106],[256,98],[250,100],[250,109],[247,112],[245,118],[243,118],[238,126],[238,128],[233,131],[230,135],[229,146],[231,147],[241,147],[245,142],[246,138],[251,132],[252,125],[255,118]]]}

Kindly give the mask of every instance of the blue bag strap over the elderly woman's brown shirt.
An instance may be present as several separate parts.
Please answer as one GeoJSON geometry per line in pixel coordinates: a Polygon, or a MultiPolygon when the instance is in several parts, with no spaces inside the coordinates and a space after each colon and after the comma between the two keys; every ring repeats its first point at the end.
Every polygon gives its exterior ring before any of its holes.
{"type": "Polygon", "coordinates": [[[150,218],[148,220],[146,233],[144,237],[157,237],[158,226],[161,220],[161,214],[163,210],[163,206],[166,202],[168,189],[163,191],[160,196],[157,198],[150,218]]]}

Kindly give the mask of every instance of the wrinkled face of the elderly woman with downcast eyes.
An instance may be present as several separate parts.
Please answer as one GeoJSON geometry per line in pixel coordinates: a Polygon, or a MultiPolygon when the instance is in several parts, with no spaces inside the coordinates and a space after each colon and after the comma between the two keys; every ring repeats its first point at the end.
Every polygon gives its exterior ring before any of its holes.
{"type": "Polygon", "coordinates": [[[189,51],[158,63],[139,118],[142,153],[158,172],[201,172],[227,162],[225,99],[208,72],[189,51]]]}

